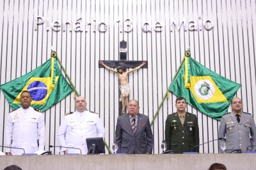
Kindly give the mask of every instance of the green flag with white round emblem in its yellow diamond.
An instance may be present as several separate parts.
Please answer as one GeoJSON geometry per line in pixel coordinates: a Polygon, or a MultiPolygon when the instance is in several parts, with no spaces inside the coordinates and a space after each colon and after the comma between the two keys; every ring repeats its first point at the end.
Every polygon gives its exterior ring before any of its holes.
{"type": "Polygon", "coordinates": [[[240,87],[192,59],[186,51],[168,90],[209,117],[221,120],[240,87]]]}

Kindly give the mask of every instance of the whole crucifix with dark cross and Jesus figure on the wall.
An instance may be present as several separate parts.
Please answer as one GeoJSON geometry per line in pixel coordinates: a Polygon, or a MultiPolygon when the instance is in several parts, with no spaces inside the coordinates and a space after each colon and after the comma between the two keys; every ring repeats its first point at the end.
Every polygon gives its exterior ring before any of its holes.
{"type": "Polygon", "coordinates": [[[130,85],[127,81],[128,74],[140,69],[141,67],[147,68],[147,61],[127,60],[127,42],[123,40],[120,41],[119,60],[99,60],[99,67],[105,67],[106,69],[109,69],[110,71],[118,74],[120,81],[119,113],[120,115],[124,115],[125,107],[127,105],[128,96],[130,93],[130,85]],[[116,70],[112,69],[111,67],[116,67],[116,70]],[[129,67],[134,69],[126,71],[126,69],[129,67]]]}

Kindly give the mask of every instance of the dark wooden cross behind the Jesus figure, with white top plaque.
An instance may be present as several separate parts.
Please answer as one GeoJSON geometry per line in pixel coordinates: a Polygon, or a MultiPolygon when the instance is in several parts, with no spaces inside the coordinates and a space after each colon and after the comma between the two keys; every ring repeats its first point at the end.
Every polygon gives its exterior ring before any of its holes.
{"type": "MultiPolygon", "coordinates": [[[[127,41],[120,41],[120,50],[119,50],[119,60],[99,60],[99,67],[104,67],[102,65],[100,65],[100,61],[104,62],[104,64],[106,64],[107,66],[111,67],[111,68],[115,68],[118,66],[122,66],[124,68],[124,70],[126,71],[127,68],[134,68],[134,67],[138,67],[141,65],[142,62],[146,62],[145,66],[143,66],[143,68],[147,68],[148,67],[148,63],[146,60],[127,60],[127,41]]],[[[118,94],[119,96],[120,94],[120,90],[118,88],[118,94]]],[[[119,99],[119,98],[118,98],[119,99]]],[[[122,113],[122,103],[119,103],[119,114],[122,113]]],[[[125,110],[126,113],[126,110],[125,110]]]]}

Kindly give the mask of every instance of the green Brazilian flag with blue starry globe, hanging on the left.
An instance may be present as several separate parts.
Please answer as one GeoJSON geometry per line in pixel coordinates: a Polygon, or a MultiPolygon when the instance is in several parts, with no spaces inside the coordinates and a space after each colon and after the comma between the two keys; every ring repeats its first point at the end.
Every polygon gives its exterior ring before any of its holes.
{"type": "Polygon", "coordinates": [[[52,52],[51,59],[41,66],[0,86],[12,110],[20,108],[20,94],[24,90],[31,94],[31,106],[42,111],[48,110],[74,91],[61,74],[56,56],[57,53],[52,52]]]}

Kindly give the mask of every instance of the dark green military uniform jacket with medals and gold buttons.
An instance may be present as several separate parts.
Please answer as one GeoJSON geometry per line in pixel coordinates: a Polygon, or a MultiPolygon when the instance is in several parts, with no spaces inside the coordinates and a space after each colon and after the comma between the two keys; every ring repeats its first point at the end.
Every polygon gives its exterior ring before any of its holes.
{"type": "MultiPolygon", "coordinates": [[[[191,152],[193,146],[199,145],[199,128],[196,115],[186,112],[184,124],[178,113],[168,115],[165,122],[165,140],[167,150],[174,153],[191,152]]],[[[193,149],[199,152],[199,147],[193,149]]]]}

